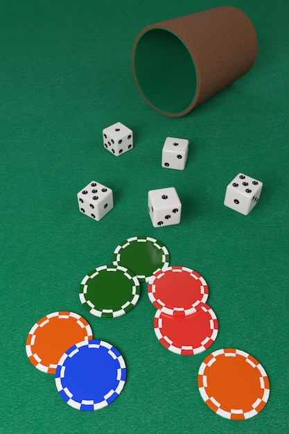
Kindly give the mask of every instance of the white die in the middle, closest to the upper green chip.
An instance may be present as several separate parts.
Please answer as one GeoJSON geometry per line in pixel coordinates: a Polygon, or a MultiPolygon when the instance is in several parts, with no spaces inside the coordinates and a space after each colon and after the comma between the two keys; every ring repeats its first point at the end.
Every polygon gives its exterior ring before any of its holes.
{"type": "Polygon", "coordinates": [[[182,204],[175,188],[150,190],[148,212],[154,227],[177,225],[181,221],[182,204]]]}

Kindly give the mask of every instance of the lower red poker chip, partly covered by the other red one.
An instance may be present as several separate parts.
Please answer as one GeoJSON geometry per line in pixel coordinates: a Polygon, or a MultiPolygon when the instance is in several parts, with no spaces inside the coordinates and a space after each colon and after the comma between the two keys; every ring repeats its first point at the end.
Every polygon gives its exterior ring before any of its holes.
{"type": "Polygon", "coordinates": [[[173,316],[158,310],[154,319],[155,334],[164,347],[176,354],[201,353],[215,342],[218,320],[208,304],[192,315],[173,316]]]}

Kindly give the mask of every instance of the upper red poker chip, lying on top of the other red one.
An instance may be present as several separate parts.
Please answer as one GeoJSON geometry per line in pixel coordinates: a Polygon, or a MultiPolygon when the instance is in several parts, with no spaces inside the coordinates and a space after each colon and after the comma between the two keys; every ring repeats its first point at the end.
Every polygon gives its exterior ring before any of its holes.
{"type": "Polygon", "coordinates": [[[168,315],[191,315],[207,302],[209,289],[204,277],[186,267],[168,267],[154,273],[148,284],[152,304],[168,315]]]}

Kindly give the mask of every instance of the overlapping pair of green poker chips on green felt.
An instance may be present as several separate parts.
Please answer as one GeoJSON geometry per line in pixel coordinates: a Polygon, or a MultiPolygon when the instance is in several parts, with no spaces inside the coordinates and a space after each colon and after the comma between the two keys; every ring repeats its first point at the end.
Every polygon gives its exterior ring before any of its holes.
{"type": "Polygon", "coordinates": [[[116,247],[113,263],[98,266],[82,279],[82,306],[99,318],[116,318],[128,313],[139,300],[142,282],[168,266],[164,244],[149,236],[134,236],[116,247]]]}

